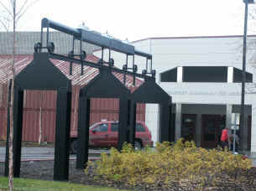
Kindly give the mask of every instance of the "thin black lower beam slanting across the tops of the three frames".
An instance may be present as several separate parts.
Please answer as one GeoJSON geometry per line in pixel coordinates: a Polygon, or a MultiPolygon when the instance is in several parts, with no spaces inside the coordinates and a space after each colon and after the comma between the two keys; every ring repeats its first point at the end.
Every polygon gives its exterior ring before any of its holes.
{"type": "MultiPolygon", "coordinates": [[[[65,55],[60,55],[60,54],[53,54],[53,53],[49,53],[49,56],[50,58],[52,59],[60,59],[60,60],[63,60],[63,61],[68,61],[68,62],[73,62],[73,63],[76,63],[78,65],[81,65],[81,59],[75,59],[75,58],[71,58],[71,57],[67,57],[65,55]]],[[[107,65],[101,65],[101,64],[95,64],[93,62],[88,62],[88,61],[83,61],[82,62],[83,65],[87,65],[87,66],[90,66],[90,67],[93,67],[93,68],[109,68],[109,66],[107,65]]],[[[118,72],[118,73],[121,73],[121,74],[126,74],[126,75],[135,75],[136,77],[138,78],[144,78],[144,79],[150,79],[150,78],[153,78],[149,75],[142,75],[142,74],[138,74],[138,73],[133,73],[131,71],[124,71],[124,70],[121,70],[121,69],[118,69],[118,68],[111,68],[112,71],[114,72],[118,72]]]]}

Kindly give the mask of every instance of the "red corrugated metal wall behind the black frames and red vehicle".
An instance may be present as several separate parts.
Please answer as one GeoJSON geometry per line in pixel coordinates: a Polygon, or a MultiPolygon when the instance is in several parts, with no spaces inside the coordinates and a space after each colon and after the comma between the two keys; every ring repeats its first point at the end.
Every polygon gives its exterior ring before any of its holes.
{"type": "MultiPolygon", "coordinates": [[[[77,112],[79,87],[72,88],[72,110],[71,110],[71,131],[77,129],[77,112]]],[[[55,107],[56,91],[52,90],[25,90],[24,91],[24,120],[23,120],[23,141],[39,141],[39,119],[41,117],[42,141],[55,141],[55,107]],[[41,109],[40,109],[41,108],[41,109]]],[[[7,86],[3,85],[3,101],[0,105],[0,140],[6,138],[7,122],[7,86]]],[[[91,99],[90,124],[107,120],[118,120],[119,101],[118,99],[91,99]]],[[[145,121],[145,105],[138,104],[137,120],[145,121]]]]}

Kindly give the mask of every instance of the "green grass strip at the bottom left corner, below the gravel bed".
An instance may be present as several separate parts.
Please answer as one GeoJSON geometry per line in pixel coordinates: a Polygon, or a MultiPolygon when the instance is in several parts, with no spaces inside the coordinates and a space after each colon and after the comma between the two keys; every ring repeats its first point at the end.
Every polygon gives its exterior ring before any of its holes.
{"type": "MultiPolygon", "coordinates": [[[[91,187],[76,183],[42,181],[27,178],[14,178],[14,191],[117,191],[115,188],[91,187]]],[[[0,177],[0,191],[8,190],[8,178],[0,177]]],[[[124,191],[124,190],[123,190],[124,191]]]]}

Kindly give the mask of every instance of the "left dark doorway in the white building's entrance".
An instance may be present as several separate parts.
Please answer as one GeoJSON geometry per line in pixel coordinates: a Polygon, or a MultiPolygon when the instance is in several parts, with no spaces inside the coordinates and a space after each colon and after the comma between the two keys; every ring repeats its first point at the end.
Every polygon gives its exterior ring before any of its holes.
{"type": "Polygon", "coordinates": [[[181,137],[184,138],[185,142],[196,142],[196,114],[182,115],[181,137]]]}

